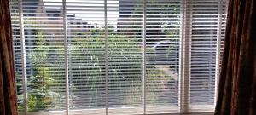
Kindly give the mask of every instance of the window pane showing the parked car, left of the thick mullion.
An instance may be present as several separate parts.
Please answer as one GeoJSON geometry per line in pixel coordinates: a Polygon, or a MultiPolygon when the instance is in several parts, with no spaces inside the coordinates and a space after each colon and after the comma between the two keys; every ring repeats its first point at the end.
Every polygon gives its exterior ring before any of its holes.
{"type": "Polygon", "coordinates": [[[180,9],[180,1],[147,1],[147,113],[178,112],[180,9]]]}

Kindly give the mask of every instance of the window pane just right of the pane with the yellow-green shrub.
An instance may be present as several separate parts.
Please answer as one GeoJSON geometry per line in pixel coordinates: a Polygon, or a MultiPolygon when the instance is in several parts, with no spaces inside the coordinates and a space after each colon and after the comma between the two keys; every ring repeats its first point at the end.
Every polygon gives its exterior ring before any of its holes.
{"type": "Polygon", "coordinates": [[[105,112],[104,32],[104,0],[67,0],[71,114],[80,114],[84,109],[100,109],[99,114],[105,112]]]}

